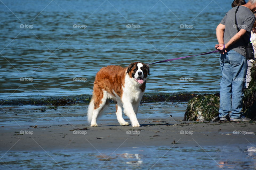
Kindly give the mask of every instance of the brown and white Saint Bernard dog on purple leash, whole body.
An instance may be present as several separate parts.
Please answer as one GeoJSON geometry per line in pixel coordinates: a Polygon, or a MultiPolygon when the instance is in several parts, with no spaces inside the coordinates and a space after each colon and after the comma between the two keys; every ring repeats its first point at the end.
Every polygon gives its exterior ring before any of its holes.
{"type": "Polygon", "coordinates": [[[133,127],[139,127],[137,111],[145,92],[149,66],[141,62],[131,63],[128,67],[107,66],[96,74],[93,96],[91,98],[87,119],[91,126],[98,126],[97,117],[109,104],[107,99],[116,103],[117,120],[122,126],[129,126],[123,119],[123,111],[130,118],[133,127]]]}

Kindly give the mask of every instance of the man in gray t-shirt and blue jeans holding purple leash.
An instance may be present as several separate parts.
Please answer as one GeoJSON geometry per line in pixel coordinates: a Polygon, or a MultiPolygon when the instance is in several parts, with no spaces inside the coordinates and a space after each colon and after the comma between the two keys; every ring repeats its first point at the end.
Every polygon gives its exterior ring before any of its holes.
{"type": "Polygon", "coordinates": [[[249,121],[243,117],[243,88],[247,71],[245,46],[250,42],[256,11],[256,0],[229,10],[216,28],[218,43],[215,48],[221,50],[221,90],[220,121],[249,121]],[[238,10],[237,10],[238,9],[238,10]],[[237,10],[235,24],[235,11],[237,10]],[[239,31],[237,30],[239,28],[239,31]],[[231,103],[232,93],[232,103],[231,103]]]}

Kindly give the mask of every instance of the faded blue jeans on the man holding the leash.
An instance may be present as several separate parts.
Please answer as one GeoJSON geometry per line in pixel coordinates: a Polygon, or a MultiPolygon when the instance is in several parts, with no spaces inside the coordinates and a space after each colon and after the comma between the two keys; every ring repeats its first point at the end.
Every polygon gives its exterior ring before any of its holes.
{"type": "Polygon", "coordinates": [[[240,118],[243,114],[243,89],[245,87],[247,60],[234,50],[221,54],[219,60],[222,73],[219,117],[225,117],[229,114],[231,118],[240,118]]]}

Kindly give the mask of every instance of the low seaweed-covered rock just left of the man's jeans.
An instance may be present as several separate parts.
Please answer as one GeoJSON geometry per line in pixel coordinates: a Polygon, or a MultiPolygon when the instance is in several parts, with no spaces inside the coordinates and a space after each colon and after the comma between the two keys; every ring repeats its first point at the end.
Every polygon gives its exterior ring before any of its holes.
{"type": "Polygon", "coordinates": [[[201,95],[189,100],[184,121],[211,121],[219,113],[218,94],[201,95]]]}

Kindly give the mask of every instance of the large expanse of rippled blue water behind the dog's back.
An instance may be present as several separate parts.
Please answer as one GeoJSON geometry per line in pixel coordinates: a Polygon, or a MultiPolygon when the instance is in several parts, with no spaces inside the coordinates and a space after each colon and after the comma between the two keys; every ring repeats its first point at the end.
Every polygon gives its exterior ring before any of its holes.
{"type": "MultiPolygon", "coordinates": [[[[0,98],[90,95],[103,66],[214,50],[215,28],[230,4],[2,0],[0,98]]],[[[147,94],[219,92],[216,53],[151,65],[150,73],[147,94]]]]}

